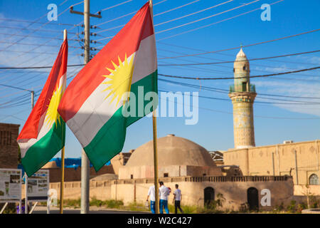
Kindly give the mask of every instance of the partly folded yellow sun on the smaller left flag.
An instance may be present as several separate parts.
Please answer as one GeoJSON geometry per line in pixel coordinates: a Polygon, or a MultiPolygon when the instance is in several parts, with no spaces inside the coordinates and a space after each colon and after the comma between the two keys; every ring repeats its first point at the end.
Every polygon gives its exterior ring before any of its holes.
{"type": "MultiPolygon", "coordinates": [[[[53,125],[53,123],[57,123],[57,120],[60,124],[60,115],[58,113],[58,106],[61,100],[63,93],[61,93],[62,86],[57,88],[51,97],[48,110],[46,113],[45,123],[46,125],[53,125]]],[[[57,125],[55,127],[58,127],[57,125]]]]}

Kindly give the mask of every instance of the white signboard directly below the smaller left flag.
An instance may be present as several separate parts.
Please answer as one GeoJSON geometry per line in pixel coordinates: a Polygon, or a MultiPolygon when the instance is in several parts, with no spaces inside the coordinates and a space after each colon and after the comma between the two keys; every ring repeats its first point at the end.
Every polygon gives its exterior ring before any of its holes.
{"type": "Polygon", "coordinates": [[[47,201],[49,190],[49,170],[39,170],[28,177],[28,201],[47,201]]]}

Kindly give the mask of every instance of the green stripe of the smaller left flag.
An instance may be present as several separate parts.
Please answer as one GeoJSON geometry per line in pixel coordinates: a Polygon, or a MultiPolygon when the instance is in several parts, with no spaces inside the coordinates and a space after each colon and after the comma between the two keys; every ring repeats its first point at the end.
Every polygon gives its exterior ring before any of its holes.
{"type": "MultiPolygon", "coordinates": [[[[60,117],[59,117],[60,118],[60,117]]],[[[28,177],[46,165],[65,146],[65,122],[53,123],[49,132],[33,144],[21,159],[23,169],[28,177]]]]}

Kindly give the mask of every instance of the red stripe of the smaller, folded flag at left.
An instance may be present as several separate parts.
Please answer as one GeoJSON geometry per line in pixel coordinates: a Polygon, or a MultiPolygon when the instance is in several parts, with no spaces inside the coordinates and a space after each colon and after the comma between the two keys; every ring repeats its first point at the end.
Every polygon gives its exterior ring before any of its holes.
{"type": "Polygon", "coordinates": [[[43,125],[41,116],[46,113],[52,98],[53,92],[59,86],[57,85],[60,78],[67,72],[68,65],[68,40],[65,40],[60,47],[53,68],[50,71],[45,86],[39,96],[36,105],[34,106],[31,114],[26,120],[21,133],[18,135],[17,140],[29,140],[31,138],[38,138],[38,133],[43,125]]]}

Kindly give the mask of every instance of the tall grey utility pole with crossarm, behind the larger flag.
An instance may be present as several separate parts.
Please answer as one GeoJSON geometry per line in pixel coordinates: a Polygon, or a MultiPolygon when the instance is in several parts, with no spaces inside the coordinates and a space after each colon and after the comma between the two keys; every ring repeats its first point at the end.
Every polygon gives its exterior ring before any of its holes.
{"type": "MultiPolygon", "coordinates": [[[[90,14],[90,0],[84,1],[84,11],[74,11],[73,7],[70,8],[71,14],[80,14],[84,16],[85,24],[85,65],[90,61],[90,16],[101,19],[101,12],[98,14],[90,14]]],[[[81,157],[81,214],[89,212],[89,197],[90,197],[90,161],[82,149],[81,157]]]]}

